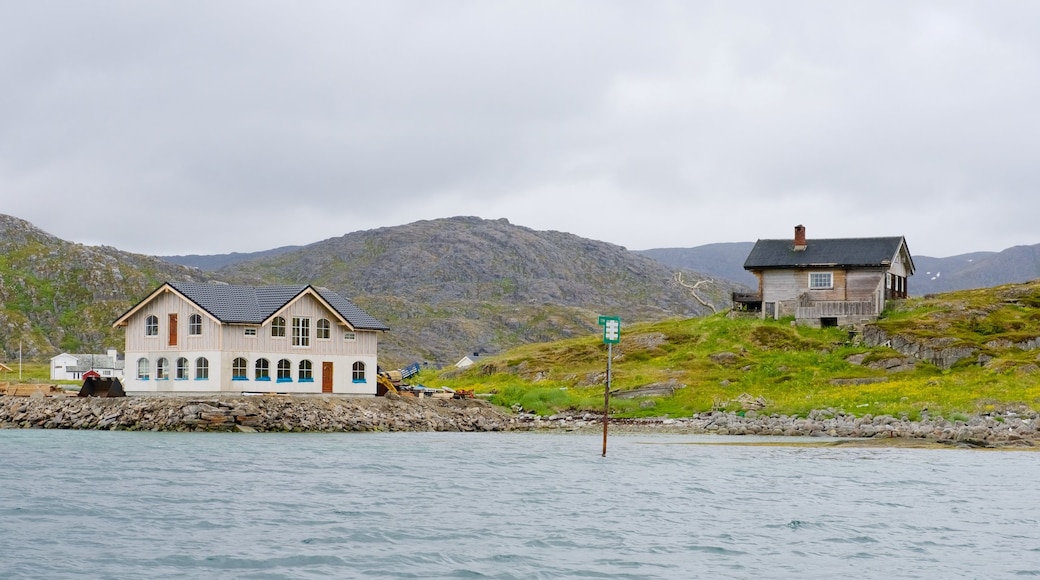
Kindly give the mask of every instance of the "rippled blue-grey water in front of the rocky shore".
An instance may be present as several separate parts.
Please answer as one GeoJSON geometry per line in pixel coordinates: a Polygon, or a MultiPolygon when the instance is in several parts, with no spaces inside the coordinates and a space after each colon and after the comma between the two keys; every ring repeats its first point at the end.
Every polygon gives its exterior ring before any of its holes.
{"type": "Polygon", "coordinates": [[[705,441],[3,430],[0,577],[1040,576],[1040,454],[705,441]]]}

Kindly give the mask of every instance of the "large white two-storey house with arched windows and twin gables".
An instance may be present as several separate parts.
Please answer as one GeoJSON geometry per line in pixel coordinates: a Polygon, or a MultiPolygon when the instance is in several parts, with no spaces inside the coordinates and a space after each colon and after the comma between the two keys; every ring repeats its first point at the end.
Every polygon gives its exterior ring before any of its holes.
{"type": "Polygon", "coordinates": [[[167,282],[120,316],[127,393],[375,395],[389,327],[346,298],[305,286],[167,282]]]}

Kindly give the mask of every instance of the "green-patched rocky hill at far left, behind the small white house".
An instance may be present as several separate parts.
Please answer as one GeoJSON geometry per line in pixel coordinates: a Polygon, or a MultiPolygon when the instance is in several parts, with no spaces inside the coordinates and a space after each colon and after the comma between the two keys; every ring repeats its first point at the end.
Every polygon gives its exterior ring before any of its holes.
{"type": "Polygon", "coordinates": [[[123,348],[111,322],[165,280],[213,276],[157,258],[58,239],[0,214],[0,358],[123,348]]]}

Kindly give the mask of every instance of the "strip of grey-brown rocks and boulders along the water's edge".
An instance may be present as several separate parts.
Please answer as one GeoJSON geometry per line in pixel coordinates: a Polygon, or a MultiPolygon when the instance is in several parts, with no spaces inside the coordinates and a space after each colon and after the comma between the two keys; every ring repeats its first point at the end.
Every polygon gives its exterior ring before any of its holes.
{"type": "MultiPolygon", "coordinates": [[[[593,431],[597,414],[540,417],[512,414],[479,399],[410,397],[15,397],[0,396],[0,428],[154,431],[593,431]]],[[[963,420],[808,417],[755,412],[704,413],[678,419],[612,419],[610,432],[781,436],[872,441],[925,441],[958,447],[1040,449],[1037,414],[981,415],[963,420]]]]}

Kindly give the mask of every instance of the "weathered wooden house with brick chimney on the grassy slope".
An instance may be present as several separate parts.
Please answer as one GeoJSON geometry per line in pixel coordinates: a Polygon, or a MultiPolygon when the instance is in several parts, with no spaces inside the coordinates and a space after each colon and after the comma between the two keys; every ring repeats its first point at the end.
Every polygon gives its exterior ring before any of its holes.
{"type": "Polygon", "coordinates": [[[890,299],[907,297],[913,259],[902,236],[758,240],[744,269],[758,293],[734,295],[734,307],[763,317],[794,316],[800,324],[836,326],[877,319],[890,299]]]}

